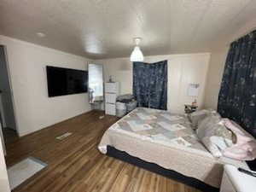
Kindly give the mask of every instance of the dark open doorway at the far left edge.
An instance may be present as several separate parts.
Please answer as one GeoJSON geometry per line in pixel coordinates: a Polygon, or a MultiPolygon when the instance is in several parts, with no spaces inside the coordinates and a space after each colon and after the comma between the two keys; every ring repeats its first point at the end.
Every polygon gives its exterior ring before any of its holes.
{"type": "Polygon", "coordinates": [[[19,138],[13,101],[6,49],[0,45],[0,121],[4,143],[13,143],[19,138]]]}

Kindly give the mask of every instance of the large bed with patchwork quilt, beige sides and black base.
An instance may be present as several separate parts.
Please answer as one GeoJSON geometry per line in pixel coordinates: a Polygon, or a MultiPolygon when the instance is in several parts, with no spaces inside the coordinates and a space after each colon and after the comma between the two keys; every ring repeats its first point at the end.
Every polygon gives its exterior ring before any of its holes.
{"type": "Polygon", "coordinates": [[[224,164],[247,168],[244,161],[214,158],[186,115],[151,108],[136,108],[119,119],[104,133],[98,148],[203,191],[218,191],[224,164]]]}

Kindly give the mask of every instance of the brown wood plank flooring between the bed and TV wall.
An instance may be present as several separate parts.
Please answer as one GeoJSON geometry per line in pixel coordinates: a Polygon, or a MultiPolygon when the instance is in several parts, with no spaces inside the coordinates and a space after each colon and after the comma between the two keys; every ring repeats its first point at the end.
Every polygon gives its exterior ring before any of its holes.
{"type": "Polygon", "coordinates": [[[102,134],[118,119],[91,111],[37,131],[7,145],[7,165],[33,156],[48,166],[15,192],[199,192],[97,150],[102,134]],[[59,141],[65,132],[73,135],[59,141]]]}

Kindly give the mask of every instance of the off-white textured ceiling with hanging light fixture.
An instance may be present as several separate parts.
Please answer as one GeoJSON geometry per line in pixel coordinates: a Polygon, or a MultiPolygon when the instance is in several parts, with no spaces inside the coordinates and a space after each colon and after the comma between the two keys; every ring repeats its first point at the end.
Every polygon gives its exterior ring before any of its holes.
{"type": "Polygon", "coordinates": [[[1,0],[0,34],[92,59],[141,37],[144,55],[166,55],[228,44],[254,18],[255,0],[1,0]]]}

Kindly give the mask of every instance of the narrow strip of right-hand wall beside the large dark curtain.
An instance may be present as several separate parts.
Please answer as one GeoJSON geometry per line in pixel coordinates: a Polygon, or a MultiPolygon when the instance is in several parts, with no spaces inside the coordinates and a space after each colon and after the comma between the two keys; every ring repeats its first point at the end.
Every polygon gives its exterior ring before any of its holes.
{"type": "Polygon", "coordinates": [[[211,54],[209,70],[207,73],[207,86],[205,95],[205,108],[217,109],[218,92],[224,73],[224,65],[229,48],[215,50],[211,54]]]}

